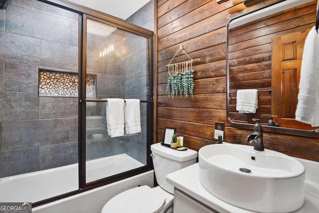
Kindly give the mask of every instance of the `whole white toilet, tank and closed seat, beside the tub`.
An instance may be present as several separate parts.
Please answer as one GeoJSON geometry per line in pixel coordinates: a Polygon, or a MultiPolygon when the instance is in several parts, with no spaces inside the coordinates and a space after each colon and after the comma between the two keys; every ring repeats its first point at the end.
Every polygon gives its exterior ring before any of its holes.
{"type": "Polygon", "coordinates": [[[191,149],[177,151],[160,145],[151,145],[155,176],[160,186],[136,187],[113,197],[102,213],[172,213],[174,188],[166,182],[166,175],[196,163],[197,152],[191,149]]]}

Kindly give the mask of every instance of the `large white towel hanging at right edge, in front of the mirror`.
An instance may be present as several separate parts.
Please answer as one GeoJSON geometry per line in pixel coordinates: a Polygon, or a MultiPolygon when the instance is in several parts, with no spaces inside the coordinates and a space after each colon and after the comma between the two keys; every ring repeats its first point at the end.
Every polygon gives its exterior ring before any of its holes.
{"type": "Polygon", "coordinates": [[[319,126],[319,37],[313,27],[306,38],[301,64],[296,121],[319,126]]]}

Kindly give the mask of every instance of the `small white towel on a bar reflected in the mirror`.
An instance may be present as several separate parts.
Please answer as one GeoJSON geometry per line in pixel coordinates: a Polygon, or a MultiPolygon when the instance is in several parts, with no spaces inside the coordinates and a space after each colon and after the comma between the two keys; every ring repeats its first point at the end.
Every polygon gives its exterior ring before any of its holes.
{"type": "Polygon", "coordinates": [[[236,97],[236,110],[240,113],[256,113],[258,108],[257,89],[239,89],[236,97]]]}

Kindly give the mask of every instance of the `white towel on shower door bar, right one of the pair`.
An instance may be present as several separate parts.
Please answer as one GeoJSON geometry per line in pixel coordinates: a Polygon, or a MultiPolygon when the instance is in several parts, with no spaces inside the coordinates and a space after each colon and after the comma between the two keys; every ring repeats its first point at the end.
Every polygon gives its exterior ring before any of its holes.
{"type": "Polygon", "coordinates": [[[141,110],[139,99],[125,99],[125,132],[134,134],[141,132],[141,110]]]}

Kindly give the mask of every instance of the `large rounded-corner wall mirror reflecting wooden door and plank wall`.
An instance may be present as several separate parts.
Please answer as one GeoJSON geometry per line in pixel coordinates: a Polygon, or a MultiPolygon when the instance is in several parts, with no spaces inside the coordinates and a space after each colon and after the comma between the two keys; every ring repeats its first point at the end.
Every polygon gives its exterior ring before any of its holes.
{"type": "Polygon", "coordinates": [[[268,126],[275,115],[272,131],[317,129],[295,120],[303,48],[316,9],[317,0],[280,0],[227,23],[227,117],[232,124],[249,126],[258,118],[268,126]],[[256,113],[236,110],[239,89],[258,90],[256,113]]]}

